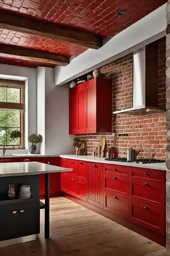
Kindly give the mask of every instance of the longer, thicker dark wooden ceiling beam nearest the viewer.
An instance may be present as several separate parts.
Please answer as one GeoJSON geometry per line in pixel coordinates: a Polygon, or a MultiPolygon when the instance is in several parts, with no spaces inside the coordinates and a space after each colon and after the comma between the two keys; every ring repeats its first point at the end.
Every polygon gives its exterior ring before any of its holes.
{"type": "Polygon", "coordinates": [[[59,40],[99,49],[103,45],[101,36],[46,21],[0,12],[0,29],[31,34],[36,37],[59,40]]]}

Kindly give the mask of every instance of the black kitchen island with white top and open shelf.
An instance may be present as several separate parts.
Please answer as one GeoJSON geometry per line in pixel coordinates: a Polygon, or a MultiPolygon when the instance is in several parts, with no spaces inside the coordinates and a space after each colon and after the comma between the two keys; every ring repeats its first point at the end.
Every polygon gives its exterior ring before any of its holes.
{"type": "Polygon", "coordinates": [[[49,173],[69,171],[38,162],[0,163],[0,241],[40,233],[40,209],[45,209],[45,238],[49,238],[49,173]],[[45,204],[40,203],[41,173],[45,174],[45,204]],[[7,196],[9,184],[15,186],[13,200],[7,196]],[[19,199],[21,185],[30,185],[30,198],[19,199]]]}

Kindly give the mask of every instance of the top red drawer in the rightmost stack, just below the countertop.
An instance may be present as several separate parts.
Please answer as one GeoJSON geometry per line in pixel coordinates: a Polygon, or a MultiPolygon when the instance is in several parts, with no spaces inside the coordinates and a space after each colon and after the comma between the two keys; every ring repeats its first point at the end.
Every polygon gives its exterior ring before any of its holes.
{"type": "Polygon", "coordinates": [[[142,179],[154,183],[165,184],[166,172],[160,170],[152,170],[146,168],[129,167],[129,178],[142,179]]]}

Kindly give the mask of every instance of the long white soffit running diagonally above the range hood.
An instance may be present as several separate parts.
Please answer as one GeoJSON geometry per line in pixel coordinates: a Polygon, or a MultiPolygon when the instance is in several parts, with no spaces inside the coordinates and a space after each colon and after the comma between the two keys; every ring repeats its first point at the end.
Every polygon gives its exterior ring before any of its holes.
{"type": "MultiPolygon", "coordinates": [[[[62,85],[165,36],[166,4],[120,32],[100,49],[88,49],[66,67],[55,67],[55,85],[62,85]]],[[[107,41],[107,40],[106,40],[107,41]]]]}

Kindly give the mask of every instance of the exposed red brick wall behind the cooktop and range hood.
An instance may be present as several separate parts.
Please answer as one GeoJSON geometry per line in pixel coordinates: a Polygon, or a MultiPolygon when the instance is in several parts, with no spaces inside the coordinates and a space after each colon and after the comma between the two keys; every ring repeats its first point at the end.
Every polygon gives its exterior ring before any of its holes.
{"type": "MultiPolygon", "coordinates": [[[[165,106],[165,38],[159,40],[159,106],[165,106]]],[[[102,75],[112,79],[112,110],[132,107],[133,104],[133,53],[110,62],[100,68],[102,75]]],[[[127,148],[142,149],[138,158],[165,159],[166,127],[165,114],[151,116],[112,116],[112,133],[77,135],[86,142],[86,151],[92,155],[102,135],[106,136],[107,148],[116,146],[119,157],[126,157],[127,148]],[[127,133],[127,137],[119,137],[127,133]]]]}

